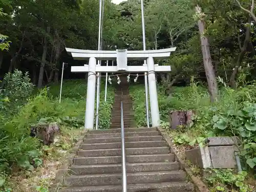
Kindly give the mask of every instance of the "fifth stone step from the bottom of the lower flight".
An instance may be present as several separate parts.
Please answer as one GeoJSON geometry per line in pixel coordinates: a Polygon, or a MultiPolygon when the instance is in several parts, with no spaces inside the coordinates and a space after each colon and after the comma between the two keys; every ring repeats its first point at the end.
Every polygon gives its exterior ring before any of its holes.
{"type": "MultiPolygon", "coordinates": [[[[126,155],[153,155],[168,154],[169,148],[166,147],[143,147],[143,148],[126,148],[126,155]]],[[[120,156],[121,148],[108,148],[104,150],[80,150],[77,152],[79,157],[98,157],[98,156],[120,156]]]]}

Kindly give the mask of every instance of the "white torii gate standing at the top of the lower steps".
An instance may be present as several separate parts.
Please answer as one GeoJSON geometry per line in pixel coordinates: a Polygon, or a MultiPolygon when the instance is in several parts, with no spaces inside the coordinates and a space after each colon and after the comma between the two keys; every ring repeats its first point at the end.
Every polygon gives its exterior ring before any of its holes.
{"type": "Polygon", "coordinates": [[[148,51],[92,51],[66,48],[69,55],[75,60],[88,60],[89,65],[72,66],[71,72],[85,73],[88,72],[87,84],[87,101],[86,101],[86,117],[85,129],[93,129],[94,126],[94,103],[95,103],[95,87],[96,87],[96,72],[125,72],[138,73],[147,72],[148,90],[150,94],[151,118],[152,126],[160,125],[160,115],[157,100],[157,86],[155,72],[171,71],[170,66],[154,65],[154,58],[166,59],[170,56],[170,52],[175,51],[175,48],[148,50],[148,51]],[[117,60],[117,66],[100,66],[96,65],[98,60],[117,60]],[[127,60],[146,60],[147,65],[143,66],[127,66],[127,60]]]}

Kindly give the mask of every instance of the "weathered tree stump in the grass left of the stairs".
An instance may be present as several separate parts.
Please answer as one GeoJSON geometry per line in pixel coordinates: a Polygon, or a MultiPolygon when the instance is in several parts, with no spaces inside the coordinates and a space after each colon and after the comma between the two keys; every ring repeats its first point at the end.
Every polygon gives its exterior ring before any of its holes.
{"type": "Polygon", "coordinates": [[[50,145],[54,142],[55,136],[59,133],[60,129],[57,123],[39,124],[31,126],[30,136],[37,137],[45,145],[50,145]]]}

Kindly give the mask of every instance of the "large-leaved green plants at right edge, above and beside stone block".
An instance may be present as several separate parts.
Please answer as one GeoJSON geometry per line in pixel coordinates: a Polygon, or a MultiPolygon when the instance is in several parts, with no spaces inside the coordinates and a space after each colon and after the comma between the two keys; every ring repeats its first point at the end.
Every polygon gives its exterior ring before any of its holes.
{"type": "Polygon", "coordinates": [[[256,157],[256,105],[254,84],[234,92],[225,88],[221,100],[198,109],[191,129],[204,127],[217,136],[238,136],[242,140],[241,156],[253,168],[256,157]]]}

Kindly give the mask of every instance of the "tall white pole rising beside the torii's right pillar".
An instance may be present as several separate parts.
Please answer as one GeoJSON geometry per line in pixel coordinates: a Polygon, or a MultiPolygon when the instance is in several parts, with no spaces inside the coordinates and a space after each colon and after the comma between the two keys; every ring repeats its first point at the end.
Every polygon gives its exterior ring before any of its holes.
{"type": "MultiPolygon", "coordinates": [[[[141,23],[142,23],[142,36],[143,36],[143,50],[146,50],[146,35],[145,35],[145,20],[144,20],[144,2],[141,0],[141,23]]],[[[146,60],[144,60],[144,65],[146,66],[146,60]]],[[[144,73],[145,76],[145,95],[146,95],[146,122],[147,127],[150,127],[150,117],[149,117],[149,108],[148,108],[148,87],[147,87],[147,73],[144,73]]]]}

